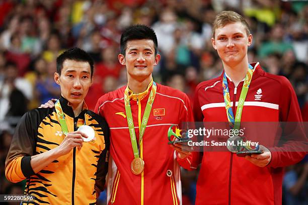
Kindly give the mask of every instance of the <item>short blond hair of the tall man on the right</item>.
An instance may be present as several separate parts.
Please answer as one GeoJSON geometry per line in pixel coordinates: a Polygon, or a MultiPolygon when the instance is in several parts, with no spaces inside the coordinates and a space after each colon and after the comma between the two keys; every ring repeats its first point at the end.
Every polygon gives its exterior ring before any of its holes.
{"type": "Polygon", "coordinates": [[[219,14],[216,15],[215,20],[213,22],[213,27],[212,27],[212,38],[215,38],[215,30],[218,28],[222,28],[227,24],[232,24],[232,23],[237,23],[241,22],[246,30],[247,36],[249,36],[250,31],[249,31],[249,26],[241,15],[234,11],[223,11],[220,12],[219,14]]]}

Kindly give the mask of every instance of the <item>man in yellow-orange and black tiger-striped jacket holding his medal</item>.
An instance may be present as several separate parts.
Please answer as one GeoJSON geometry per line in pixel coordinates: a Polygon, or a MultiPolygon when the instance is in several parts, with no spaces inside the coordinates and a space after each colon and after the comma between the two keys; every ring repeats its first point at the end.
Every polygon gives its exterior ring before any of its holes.
{"type": "Polygon", "coordinates": [[[109,128],[84,102],[92,75],[93,60],[85,51],[62,53],[54,74],[61,87],[57,106],[26,113],[16,128],[5,173],[12,182],[26,179],[32,204],[96,204],[104,189],[109,128]],[[94,130],[91,141],[89,133],[77,131],[84,125],[94,130]]]}

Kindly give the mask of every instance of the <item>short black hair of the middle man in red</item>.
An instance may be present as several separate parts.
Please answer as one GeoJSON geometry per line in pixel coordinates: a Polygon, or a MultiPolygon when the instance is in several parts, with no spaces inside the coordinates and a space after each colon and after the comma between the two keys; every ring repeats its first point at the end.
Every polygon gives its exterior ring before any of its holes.
{"type": "Polygon", "coordinates": [[[132,25],[130,27],[127,27],[124,30],[124,32],[121,35],[121,40],[120,40],[121,54],[125,56],[125,49],[126,49],[127,41],[141,40],[141,39],[152,40],[154,43],[154,48],[155,48],[155,55],[157,55],[158,43],[157,43],[157,36],[155,34],[155,31],[151,29],[150,27],[141,25],[141,24],[132,25]]]}

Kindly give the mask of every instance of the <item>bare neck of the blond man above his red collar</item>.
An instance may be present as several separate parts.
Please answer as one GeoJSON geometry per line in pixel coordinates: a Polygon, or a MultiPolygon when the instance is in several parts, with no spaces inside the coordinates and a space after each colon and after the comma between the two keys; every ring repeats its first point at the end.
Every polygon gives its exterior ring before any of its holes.
{"type": "Polygon", "coordinates": [[[232,79],[235,86],[237,87],[240,82],[245,78],[248,71],[249,64],[247,55],[246,59],[242,60],[240,63],[230,64],[222,61],[222,64],[225,73],[232,79]]]}

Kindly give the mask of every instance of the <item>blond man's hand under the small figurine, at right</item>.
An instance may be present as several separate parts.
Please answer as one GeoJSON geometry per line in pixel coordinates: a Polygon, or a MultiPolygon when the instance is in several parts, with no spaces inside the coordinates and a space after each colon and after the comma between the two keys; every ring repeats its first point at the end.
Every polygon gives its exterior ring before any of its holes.
{"type": "Polygon", "coordinates": [[[250,156],[246,155],[245,159],[247,159],[256,166],[265,167],[270,163],[272,159],[272,154],[269,149],[267,149],[263,145],[260,145],[260,151],[262,151],[262,154],[252,154],[250,156]]]}

